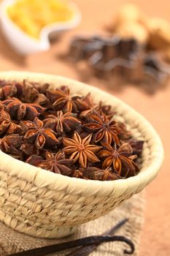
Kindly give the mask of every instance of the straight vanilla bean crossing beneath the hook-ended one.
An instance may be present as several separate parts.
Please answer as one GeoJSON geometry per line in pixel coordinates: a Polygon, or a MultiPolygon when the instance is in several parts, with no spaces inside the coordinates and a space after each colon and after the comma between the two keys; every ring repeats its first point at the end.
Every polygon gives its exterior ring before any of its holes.
{"type": "MultiPolygon", "coordinates": [[[[128,221],[128,219],[123,219],[122,221],[118,222],[117,225],[112,227],[111,229],[107,230],[107,232],[103,233],[102,236],[113,236],[113,234],[120,229],[125,223],[128,221]]],[[[98,244],[100,245],[100,244],[98,244]]],[[[82,246],[78,249],[75,249],[73,252],[70,252],[69,255],[66,256],[88,256],[91,252],[93,252],[98,245],[90,245],[90,246],[82,246]]]]}

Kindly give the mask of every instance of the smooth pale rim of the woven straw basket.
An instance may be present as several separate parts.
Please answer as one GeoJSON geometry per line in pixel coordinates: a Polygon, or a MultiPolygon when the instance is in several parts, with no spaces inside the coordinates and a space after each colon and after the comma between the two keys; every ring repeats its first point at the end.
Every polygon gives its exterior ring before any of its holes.
{"type": "Polygon", "coordinates": [[[14,159],[13,157],[10,157],[9,155],[4,154],[4,152],[0,151],[0,167],[2,171],[7,171],[6,169],[8,169],[12,176],[18,176],[18,178],[23,178],[23,180],[26,181],[36,182],[36,179],[39,179],[39,184],[42,184],[42,187],[48,185],[51,189],[58,189],[59,185],[63,184],[64,187],[69,187],[69,189],[74,189],[75,187],[77,189],[81,189],[82,192],[85,191],[86,194],[93,192],[93,189],[95,190],[97,188],[98,190],[110,189],[110,191],[112,191],[113,189],[117,189],[119,187],[136,187],[139,186],[139,184],[141,183],[148,184],[150,181],[152,181],[153,178],[155,178],[158,170],[160,170],[163,163],[163,145],[161,143],[161,139],[159,138],[157,132],[152,127],[152,125],[140,113],[136,112],[134,108],[131,108],[130,106],[126,105],[125,102],[123,102],[122,100],[117,99],[117,97],[105,91],[102,91],[101,89],[97,89],[96,87],[89,86],[88,84],[70,78],[65,78],[58,75],[47,75],[45,73],[37,72],[0,72],[0,79],[19,81],[23,80],[23,78],[31,81],[41,80],[43,83],[47,82],[48,79],[49,82],[50,80],[53,80],[54,83],[55,81],[58,81],[58,83],[61,84],[72,83],[75,86],[80,86],[80,89],[82,88],[82,86],[85,86],[86,89],[89,89],[89,91],[93,91],[93,93],[102,93],[104,97],[108,97],[108,99],[111,99],[112,97],[112,99],[117,102],[117,105],[120,106],[120,108],[123,108],[124,110],[127,110],[128,113],[131,113],[132,120],[137,119],[146,129],[146,137],[148,135],[150,141],[152,141],[152,146],[150,147],[152,161],[149,163],[149,165],[143,167],[136,176],[115,181],[93,181],[81,178],[71,178],[68,176],[51,173],[39,167],[28,165],[18,159],[14,159]],[[18,171],[18,167],[20,171],[18,171]]]}

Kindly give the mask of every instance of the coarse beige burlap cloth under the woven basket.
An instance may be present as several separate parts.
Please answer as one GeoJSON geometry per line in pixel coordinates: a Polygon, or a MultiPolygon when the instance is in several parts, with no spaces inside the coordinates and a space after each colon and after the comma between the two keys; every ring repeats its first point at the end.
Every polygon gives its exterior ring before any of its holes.
{"type": "MultiPolygon", "coordinates": [[[[144,222],[144,192],[139,195],[134,195],[131,199],[123,203],[123,205],[115,208],[114,211],[100,217],[94,221],[81,225],[77,229],[77,233],[69,236],[69,238],[63,239],[42,239],[27,236],[22,233],[18,233],[6,225],[0,223],[0,256],[7,256],[15,252],[24,251],[26,249],[32,249],[35,247],[41,247],[50,244],[60,243],[61,241],[68,241],[75,238],[81,238],[91,235],[100,235],[115,225],[121,219],[128,218],[125,226],[117,232],[117,234],[130,238],[135,244],[134,256],[139,252],[139,241],[142,231],[142,224],[144,222]]],[[[123,255],[123,249],[125,249],[123,243],[107,243],[98,246],[96,252],[93,252],[92,256],[120,256],[123,255]]],[[[127,248],[127,247],[126,247],[127,248]]],[[[65,252],[58,252],[53,255],[64,256],[65,252]]]]}

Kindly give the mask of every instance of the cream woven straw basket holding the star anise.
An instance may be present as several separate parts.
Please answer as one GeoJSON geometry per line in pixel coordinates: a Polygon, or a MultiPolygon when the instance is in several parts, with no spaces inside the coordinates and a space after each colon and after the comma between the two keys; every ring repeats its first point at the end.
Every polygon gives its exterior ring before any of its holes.
{"type": "Polygon", "coordinates": [[[0,151],[0,220],[14,230],[42,238],[61,238],[77,225],[107,214],[149,184],[163,162],[163,146],[155,129],[120,99],[84,83],[31,72],[0,72],[0,79],[68,85],[72,94],[90,92],[94,101],[112,105],[135,138],[145,141],[140,172],[117,181],[69,178],[28,165],[0,151]]]}

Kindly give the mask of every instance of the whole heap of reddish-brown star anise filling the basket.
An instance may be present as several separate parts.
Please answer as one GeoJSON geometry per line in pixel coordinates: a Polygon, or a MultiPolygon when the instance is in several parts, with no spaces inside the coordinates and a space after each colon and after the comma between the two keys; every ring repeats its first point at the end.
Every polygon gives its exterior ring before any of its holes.
{"type": "Polygon", "coordinates": [[[143,141],[114,115],[68,86],[0,80],[1,151],[53,173],[100,181],[138,173],[143,141]]]}

